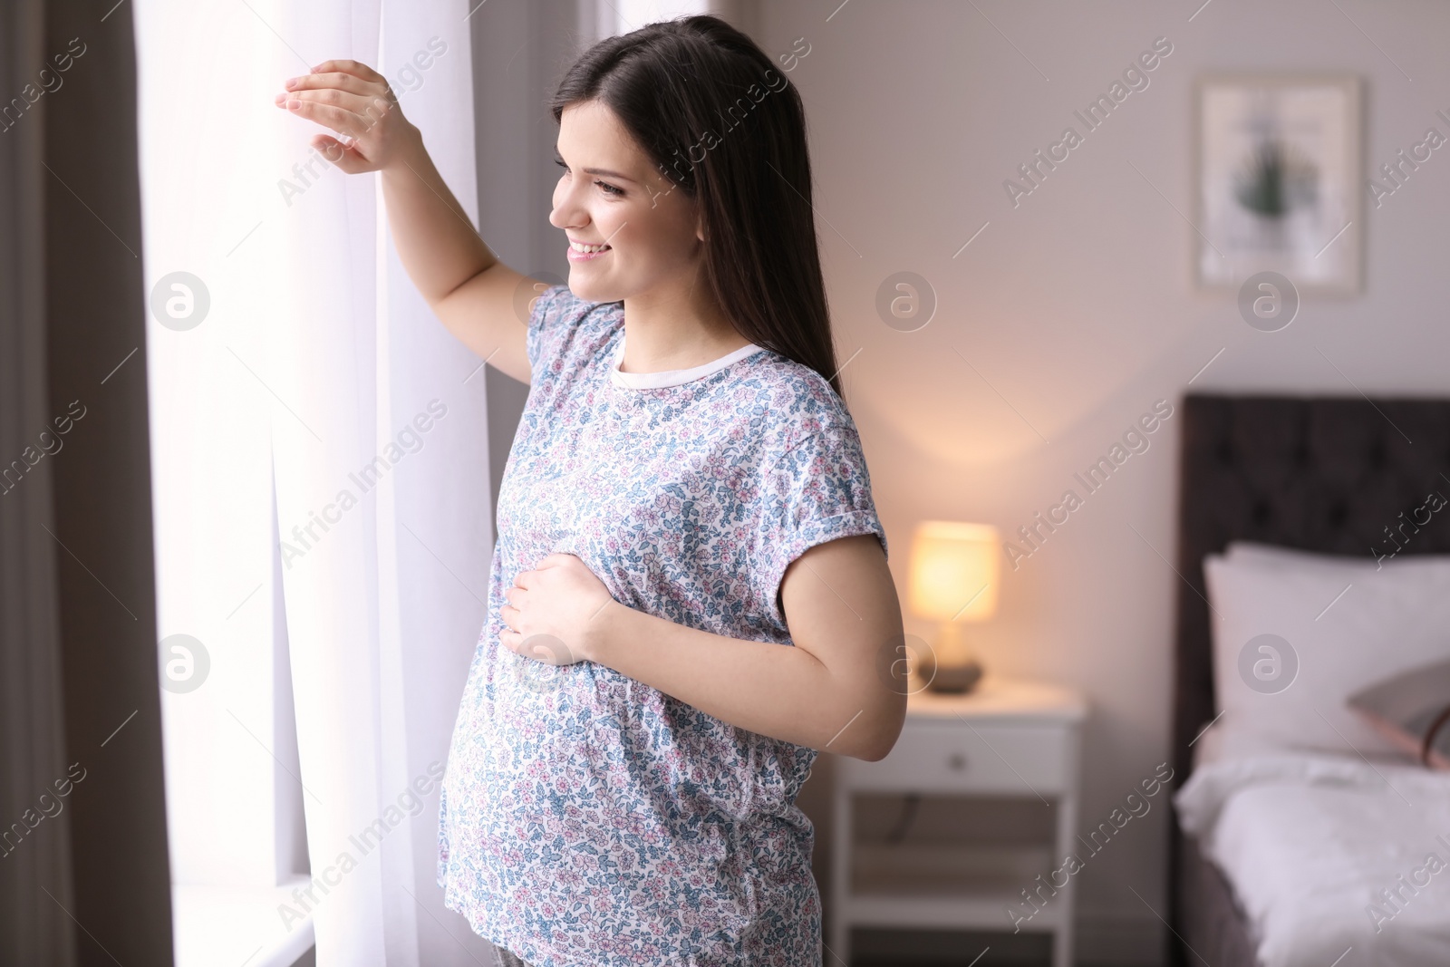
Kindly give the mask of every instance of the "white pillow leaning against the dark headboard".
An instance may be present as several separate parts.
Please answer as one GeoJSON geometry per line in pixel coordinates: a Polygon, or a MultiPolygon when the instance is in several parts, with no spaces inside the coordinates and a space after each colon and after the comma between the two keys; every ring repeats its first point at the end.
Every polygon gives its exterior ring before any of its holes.
{"type": "Polygon", "coordinates": [[[1217,710],[1272,744],[1392,754],[1347,699],[1450,658],[1450,555],[1337,557],[1230,545],[1204,558],[1217,710]]]}

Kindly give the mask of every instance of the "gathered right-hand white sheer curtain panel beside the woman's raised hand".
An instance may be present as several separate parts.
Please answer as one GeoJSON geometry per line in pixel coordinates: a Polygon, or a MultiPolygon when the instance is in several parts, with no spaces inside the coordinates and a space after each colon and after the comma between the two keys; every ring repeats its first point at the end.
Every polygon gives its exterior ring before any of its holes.
{"type": "MultiPolygon", "coordinates": [[[[465,4],[287,13],[315,62],[389,78],[476,216],[465,4]]],[[[284,120],[306,157],[318,128],[284,120]]],[[[465,383],[478,361],[402,270],[377,175],[316,170],[278,238],[294,300],[265,342],[277,393],[306,415],[273,407],[271,445],[312,879],[328,889],[312,912],[318,960],[471,963],[487,945],[442,909],[434,867],[493,541],[483,386],[465,383]]]]}

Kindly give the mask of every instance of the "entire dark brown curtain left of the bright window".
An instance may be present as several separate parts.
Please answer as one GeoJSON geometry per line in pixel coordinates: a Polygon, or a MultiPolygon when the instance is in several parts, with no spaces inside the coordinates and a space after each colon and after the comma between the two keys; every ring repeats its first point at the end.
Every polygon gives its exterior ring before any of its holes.
{"type": "Polygon", "coordinates": [[[0,6],[0,963],[170,966],[130,4],[0,6]]]}

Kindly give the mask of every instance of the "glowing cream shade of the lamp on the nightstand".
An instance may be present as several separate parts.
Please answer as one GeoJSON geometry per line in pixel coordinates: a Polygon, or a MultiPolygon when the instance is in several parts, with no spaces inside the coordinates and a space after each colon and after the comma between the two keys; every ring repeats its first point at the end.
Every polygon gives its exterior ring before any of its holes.
{"type": "Polygon", "coordinates": [[[911,551],[909,607],[931,621],[986,621],[996,613],[1002,542],[986,523],[925,520],[911,551]]]}

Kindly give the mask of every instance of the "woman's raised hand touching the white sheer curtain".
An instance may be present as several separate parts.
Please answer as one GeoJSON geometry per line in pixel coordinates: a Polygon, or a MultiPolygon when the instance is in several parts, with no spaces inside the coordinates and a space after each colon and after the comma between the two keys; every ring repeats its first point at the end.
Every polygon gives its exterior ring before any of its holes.
{"type": "Polygon", "coordinates": [[[331,135],[310,141],[348,174],[397,164],[403,154],[400,146],[418,136],[418,129],[403,117],[387,78],[367,64],[323,61],[312,74],[289,78],[286,87],[277,94],[278,107],[351,138],[347,144],[331,135]]]}

